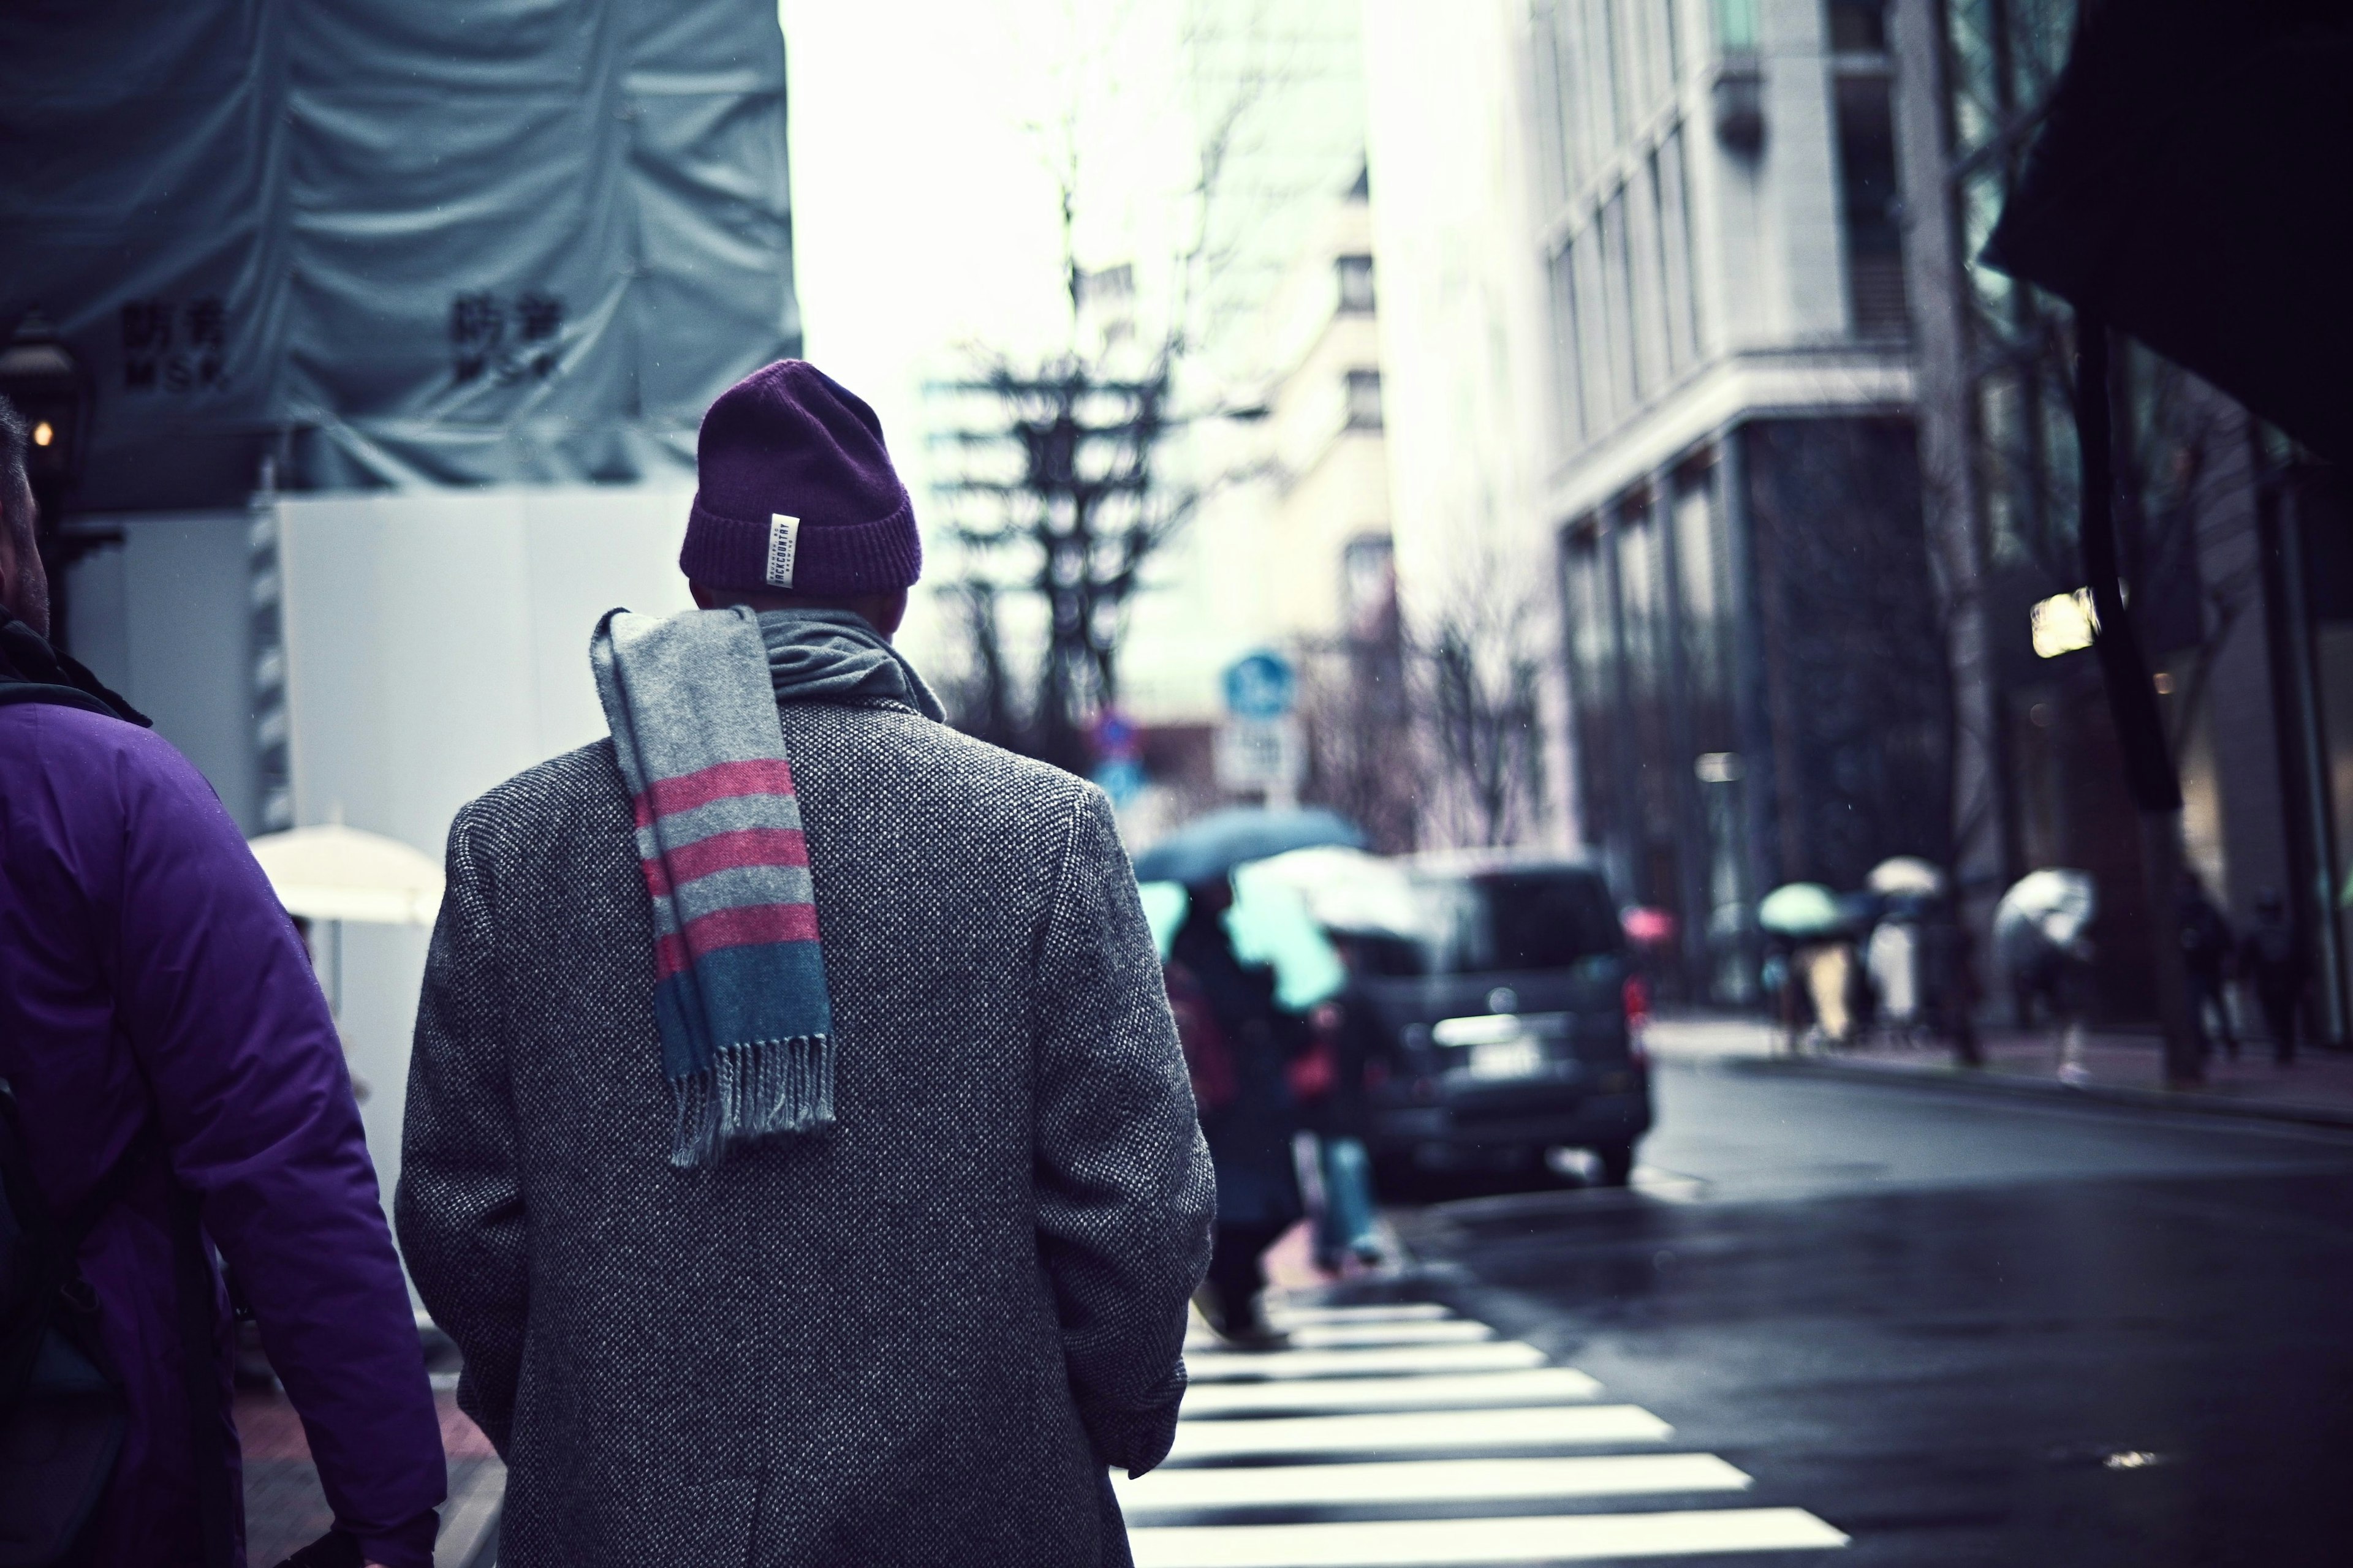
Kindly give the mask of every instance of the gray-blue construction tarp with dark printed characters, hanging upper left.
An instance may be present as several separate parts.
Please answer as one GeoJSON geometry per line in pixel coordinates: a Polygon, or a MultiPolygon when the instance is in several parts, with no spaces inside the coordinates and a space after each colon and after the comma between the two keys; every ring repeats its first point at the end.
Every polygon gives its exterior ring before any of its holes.
{"type": "Polygon", "coordinates": [[[692,470],[800,353],[774,0],[0,5],[0,336],[75,510],[692,470]]]}

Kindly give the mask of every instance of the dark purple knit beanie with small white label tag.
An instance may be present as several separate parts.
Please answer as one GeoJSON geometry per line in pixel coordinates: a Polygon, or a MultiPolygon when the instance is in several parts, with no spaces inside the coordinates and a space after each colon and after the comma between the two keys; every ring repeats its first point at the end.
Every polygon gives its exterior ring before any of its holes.
{"type": "Polygon", "coordinates": [[[922,576],[915,505],[882,421],[807,360],[776,360],[704,414],[678,569],[711,588],[861,595],[922,576]]]}

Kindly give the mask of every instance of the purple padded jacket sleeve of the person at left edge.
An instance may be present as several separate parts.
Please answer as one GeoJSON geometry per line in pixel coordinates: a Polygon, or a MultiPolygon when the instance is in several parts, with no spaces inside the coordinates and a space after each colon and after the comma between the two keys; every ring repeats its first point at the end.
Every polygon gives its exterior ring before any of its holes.
{"type": "Polygon", "coordinates": [[[426,1568],[440,1420],[327,1001],[221,802],[179,752],[125,752],[115,1018],[155,1091],[336,1523],[426,1568]]]}

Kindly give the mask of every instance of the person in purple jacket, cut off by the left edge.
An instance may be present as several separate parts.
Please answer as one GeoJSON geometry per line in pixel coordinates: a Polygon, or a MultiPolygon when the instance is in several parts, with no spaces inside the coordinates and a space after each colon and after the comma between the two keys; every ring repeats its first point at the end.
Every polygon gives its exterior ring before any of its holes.
{"type": "Polygon", "coordinates": [[[311,1436],[339,1528],[322,1559],[431,1568],[440,1422],[334,1020],[205,778],[49,649],[24,458],[0,400],[0,1079],[52,1213],[129,1161],[78,1255],[127,1406],[82,1561],[245,1561],[209,1258],[212,1375],[181,1354],[193,1208],[311,1436]]]}

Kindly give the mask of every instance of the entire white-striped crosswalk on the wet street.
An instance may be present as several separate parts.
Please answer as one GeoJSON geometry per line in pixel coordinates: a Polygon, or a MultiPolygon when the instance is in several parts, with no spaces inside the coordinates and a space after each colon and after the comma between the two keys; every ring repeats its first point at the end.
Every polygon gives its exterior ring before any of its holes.
{"type": "Polygon", "coordinates": [[[1438,1302],[1268,1302],[1282,1349],[1200,1319],[1167,1462],[1113,1479],[1136,1568],[1508,1568],[1847,1544],[1534,1345],[1438,1302]],[[1579,1453],[1584,1450],[1584,1453],[1579,1453]],[[1574,1512],[1612,1500],[1652,1512],[1574,1512]],[[1640,1505],[1635,1505],[1640,1507],[1640,1505]],[[1452,1514],[1431,1519],[1428,1514],[1452,1514]],[[1285,1521],[1285,1523],[1261,1523],[1285,1521]]]}

